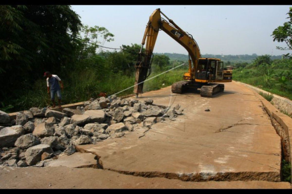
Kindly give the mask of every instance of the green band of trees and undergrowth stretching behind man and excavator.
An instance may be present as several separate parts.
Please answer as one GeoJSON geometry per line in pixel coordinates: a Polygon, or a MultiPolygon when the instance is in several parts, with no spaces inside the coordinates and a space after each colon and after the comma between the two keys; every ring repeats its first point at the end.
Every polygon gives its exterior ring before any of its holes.
{"type": "MultiPolygon", "coordinates": [[[[133,86],[141,45],[121,45],[106,51],[114,34],[102,26],[82,25],[67,5],[0,5],[0,110],[14,112],[50,104],[45,71],[64,83],[62,104],[112,95],[133,86]]],[[[142,34],[141,34],[142,38],[142,34]]],[[[291,99],[291,59],[281,56],[203,55],[236,66],[233,78],[291,99]]],[[[170,86],[183,79],[188,56],[155,54],[144,91],[170,86]],[[149,77],[149,78],[150,78],[149,77]]],[[[119,93],[131,94],[133,88],[119,93]]]]}

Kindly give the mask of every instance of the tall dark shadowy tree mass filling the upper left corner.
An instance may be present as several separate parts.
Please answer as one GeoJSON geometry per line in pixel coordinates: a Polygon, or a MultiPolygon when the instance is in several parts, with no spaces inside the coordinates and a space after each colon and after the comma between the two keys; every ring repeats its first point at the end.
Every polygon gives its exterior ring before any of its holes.
{"type": "Polygon", "coordinates": [[[68,5],[0,5],[0,99],[25,92],[46,70],[70,68],[80,26],[68,5]]]}

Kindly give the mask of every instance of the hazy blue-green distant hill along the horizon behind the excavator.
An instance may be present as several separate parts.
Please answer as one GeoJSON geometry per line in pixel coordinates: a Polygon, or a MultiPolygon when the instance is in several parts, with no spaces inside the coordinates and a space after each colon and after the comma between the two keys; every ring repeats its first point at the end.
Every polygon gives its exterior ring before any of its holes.
{"type": "MultiPolygon", "coordinates": [[[[154,53],[154,55],[167,55],[170,60],[188,60],[188,55],[185,54],[178,54],[178,53],[154,53]]],[[[256,59],[258,57],[257,54],[252,55],[213,55],[213,54],[202,54],[202,57],[206,58],[220,58],[223,61],[230,61],[230,63],[251,63],[252,60],[256,59]]],[[[281,59],[282,55],[273,55],[271,56],[271,59],[281,59]]]]}

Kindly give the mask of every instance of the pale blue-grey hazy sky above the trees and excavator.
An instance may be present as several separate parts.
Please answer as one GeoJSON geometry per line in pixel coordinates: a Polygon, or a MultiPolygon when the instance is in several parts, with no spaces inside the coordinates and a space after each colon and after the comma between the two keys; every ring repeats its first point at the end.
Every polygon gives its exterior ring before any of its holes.
{"type": "MultiPolygon", "coordinates": [[[[160,8],[181,29],[193,35],[201,54],[223,55],[288,53],[276,49],[286,45],[273,42],[271,34],[288,21],[289,7],[292,5],[72,5],[82,24],[103,26],[114,34],[114,41],[106,42],[106,47],[141,44],[149,16],[160,8]]],[[[187,54],[163,31],[159,31],[154,52],[187,54]]]]}

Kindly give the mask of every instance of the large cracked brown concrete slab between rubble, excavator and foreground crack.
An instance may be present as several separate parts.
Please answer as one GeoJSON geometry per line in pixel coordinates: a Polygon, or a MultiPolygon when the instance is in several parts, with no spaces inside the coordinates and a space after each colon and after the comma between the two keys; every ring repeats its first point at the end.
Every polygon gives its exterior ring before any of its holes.
{"type": "Polygon", "coordinates": [[[80,145],[104,169],[184,181],[280,181],[281,142],[262,103],[250,89],[225,83],[214,98],[172,94],[171,87],[145,92],[140,100],[176,105],[184,115],[96,145],[80,145]],[[210,109],[209,112],[204,111],[210,109]]]}

